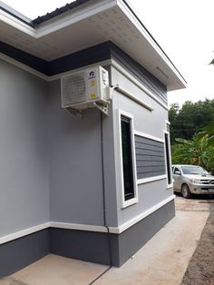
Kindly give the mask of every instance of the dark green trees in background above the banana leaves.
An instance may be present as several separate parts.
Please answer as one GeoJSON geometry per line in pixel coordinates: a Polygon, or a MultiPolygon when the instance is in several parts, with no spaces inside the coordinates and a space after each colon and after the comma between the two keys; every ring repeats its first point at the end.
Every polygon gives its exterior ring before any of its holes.
{"type": "Polygon", "coordinates": [[[187,101],[180,108],[173,103],[169,110],[171,144],[176,138],[191,140],[195,133],[214,120],[214,100],[192,103],[187,101]]]}

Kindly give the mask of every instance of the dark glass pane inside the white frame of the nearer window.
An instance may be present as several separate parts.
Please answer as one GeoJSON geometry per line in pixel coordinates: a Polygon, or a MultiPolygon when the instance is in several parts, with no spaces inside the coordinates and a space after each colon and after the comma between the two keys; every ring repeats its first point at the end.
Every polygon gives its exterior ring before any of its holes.
{"type": "Polygon", "coordinates": [[[133,165],[131,158],[131,119],[122,116],[122,170],[124,184],[124,200],[134,197],[133,165]]]}

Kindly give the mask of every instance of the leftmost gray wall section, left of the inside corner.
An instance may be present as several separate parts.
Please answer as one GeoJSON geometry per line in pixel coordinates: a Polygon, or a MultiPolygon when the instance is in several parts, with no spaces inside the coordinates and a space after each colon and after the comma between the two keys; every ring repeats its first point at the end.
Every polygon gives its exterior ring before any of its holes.
{"type": "Polygon", "coordinates": [[[0,60],[0,236],[49,221],[47,84],[0,60]]]}

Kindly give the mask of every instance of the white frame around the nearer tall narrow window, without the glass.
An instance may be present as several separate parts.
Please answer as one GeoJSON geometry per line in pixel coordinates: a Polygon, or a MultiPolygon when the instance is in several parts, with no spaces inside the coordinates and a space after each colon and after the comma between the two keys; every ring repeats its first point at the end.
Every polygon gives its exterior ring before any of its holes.
{"type": "Polygon", "coordinates": [[[136,155],[135,155],[135,144],[134,144],[134,124],[133,116],[131,113],[127,113],[121,109],[118,112],[119,119],[119,143],[120,143],[120,169],[121,169],[121,188],[122,188],[122,209],[137,203],[138,200],[138,186],[137,186],[137,168],[136,168],[136,155]],[[132,161],[132,175],[133,175],[133,191],[134,197],[130,200],[125,201],[124,181],[123,181],[123,163],[122,163],[122,116],[127,117],[131,123],[131,161],[132,161]]]}

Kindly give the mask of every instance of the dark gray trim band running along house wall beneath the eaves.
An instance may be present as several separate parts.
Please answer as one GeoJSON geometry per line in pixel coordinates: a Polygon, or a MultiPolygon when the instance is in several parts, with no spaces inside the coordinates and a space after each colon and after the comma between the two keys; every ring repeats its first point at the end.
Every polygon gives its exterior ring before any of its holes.
{"type": "Polygon", "coordinates": [[[105,42],[86,48],[74,54],[68,54],[47,62],[32,54],[27,54],[9,44],[0,42],[0,52],[6,54],[22,64],[28,65],[35,70],[48,76],[61,74],[76,68],[90,64],[96,64],[108,59],[115,60],[127,70],[133,77],[147,87],[152,93],[167,104],[167,88],[160,81],[150,74],[145,68],[135,62],[128,54],[112,42],[105,42]]]}

